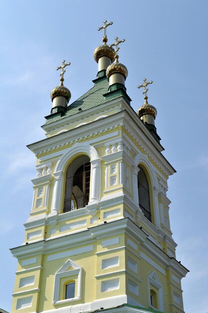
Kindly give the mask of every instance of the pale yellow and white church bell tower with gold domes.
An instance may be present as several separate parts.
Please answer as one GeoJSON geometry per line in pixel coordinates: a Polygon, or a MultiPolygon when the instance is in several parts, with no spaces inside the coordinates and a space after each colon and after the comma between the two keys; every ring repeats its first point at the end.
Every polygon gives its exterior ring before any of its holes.
{"type": "MultiPolygon", "coordinates": [[[[182,313],[181,279],[167,197],[175,169],[162,154],[157,109],[136,113],[119,61],[119,45],[103,43],[93,86],[73,103],[60,84],[42,126],[46,138],[28,145],[37,158],[34,195],[18,260],[12,313],[89,311],[182,313]]],[[[68,84],[68,83],[67,83],[68,84]]],[[[139,102],[139,100],[138,100],[139,102]]]]}

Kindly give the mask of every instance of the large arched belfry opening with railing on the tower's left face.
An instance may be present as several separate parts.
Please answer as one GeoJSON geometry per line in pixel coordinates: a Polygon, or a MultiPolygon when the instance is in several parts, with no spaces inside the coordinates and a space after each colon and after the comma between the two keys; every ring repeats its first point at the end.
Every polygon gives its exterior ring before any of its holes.
{"type": "Polygon", "coordinates": [[[77,157],[67,168],[63,212],[85,207],[90,193],[90,159],[77,157]]]}

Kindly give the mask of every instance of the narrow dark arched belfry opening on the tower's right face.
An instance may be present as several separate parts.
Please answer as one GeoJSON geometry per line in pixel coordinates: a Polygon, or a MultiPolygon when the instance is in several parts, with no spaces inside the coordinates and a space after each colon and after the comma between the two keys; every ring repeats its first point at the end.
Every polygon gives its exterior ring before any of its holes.
{"type": "Polygon", "coordinates": [[[141,166],[138,165],[138,167],[139,206],[142,209],[145,217],[151,221],[149,184],[144,170],[141,166]]]}

